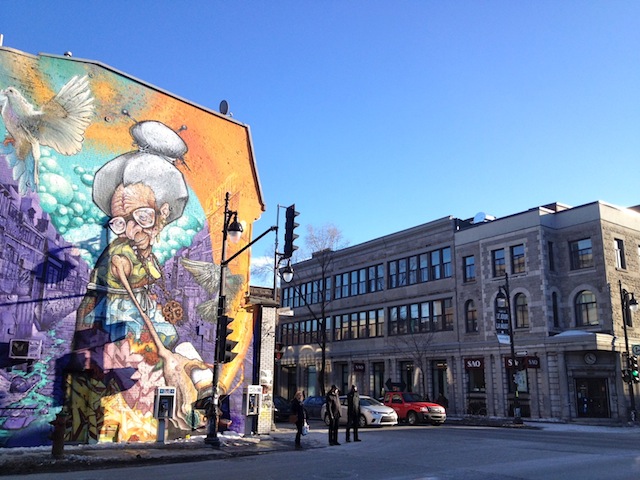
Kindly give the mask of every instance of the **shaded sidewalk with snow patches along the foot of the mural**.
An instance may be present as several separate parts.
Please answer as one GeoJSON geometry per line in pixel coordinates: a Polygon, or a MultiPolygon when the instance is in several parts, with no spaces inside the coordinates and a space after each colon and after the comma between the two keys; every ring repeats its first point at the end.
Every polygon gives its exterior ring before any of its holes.
{"type": "MultiPolygon", "coordinates": [[[[258,455],[293,450],[295,430],[277,428],[269,435],[242,437],[220,435],[220,448],[204,443],[205,436],[192,436],[166,443],[100,443],[65,445],[62,458],[53,458],[51,447],[0,449],[0,477],[4,475],[90,470],[105,466],[134,466],[180,463],[216,458],[258,455]]],[[[304,440],[306,448],[326,446],[326,433],[312,432],[304,440]]]]}

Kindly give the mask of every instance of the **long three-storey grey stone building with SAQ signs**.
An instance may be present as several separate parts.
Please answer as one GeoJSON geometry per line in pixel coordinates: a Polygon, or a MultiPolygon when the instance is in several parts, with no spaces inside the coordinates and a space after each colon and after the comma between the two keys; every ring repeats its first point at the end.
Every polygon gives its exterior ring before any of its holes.
{"type": "Polygon", "coordinates": [[[278,329],[281,395],[320,394],[326,338],[326,383],[343,391],[416,391],[454,415],[623,421],[635,407],[621,374],[640,349],[640,319],[626,308],[640,293],[635,209],[445,217],[294,270],[282,291],[294,314],[278,329]]]}

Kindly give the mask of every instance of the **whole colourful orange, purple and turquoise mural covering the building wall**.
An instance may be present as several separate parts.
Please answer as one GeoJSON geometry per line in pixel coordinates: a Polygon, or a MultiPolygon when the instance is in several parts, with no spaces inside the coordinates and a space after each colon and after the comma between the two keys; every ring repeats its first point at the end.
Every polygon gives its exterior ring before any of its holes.
{"type": "MultiPolygon", "coordinates": [[[[259,215],[247,132],[104,66],[1,48],[0,108],[0,446],[50,443],[58,413],[68,441],[155,441],[164,386],[169,434],[203,429],[225,192],[259,215]]],[[[248,267],[227,276],[240,343],[221,378],[240,429],[248,267]]]]}

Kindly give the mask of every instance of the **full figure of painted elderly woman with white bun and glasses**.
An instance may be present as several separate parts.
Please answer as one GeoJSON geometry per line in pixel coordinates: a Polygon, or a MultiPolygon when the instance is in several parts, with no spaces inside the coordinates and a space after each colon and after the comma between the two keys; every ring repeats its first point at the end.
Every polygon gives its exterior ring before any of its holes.
{"type": "MultiPolygon", "coordinates": [[[[155,373],[158,366],[164,385],[176,387],[172,422],[179,429],[190,428],[191,404],[197,398],[191,373],[208,368],[199,358],[171,350],[177,341],[175,326],[151,292],[154,284],[162,285],[154,243],[163,227],[182,215],[188,200],[186,183],[174,165],[186,144],[159,122],[137,123],[131,133],[139,150],[106,163],[93,185],[93,200],[109,216],[115,239],[96,262],[76,317],[74,349],[89,352],[94,373],[75,375],[72,382],[71,408],[83,410],[78,417],[89,421],[77,425],[88,433],[74,430],[71,439],[96,436],[107,422],[119,424],[124,438],[148,439],[153,388],[162,385],[155,373]],[[151,365],[146,373],[138,365],[138,354],[151,365]],[[117,403],[119,397],[112,394],[118,391],[128,407],[117,403]]],[[[166,307],[170,302],[164,303],[166,307]]]]}

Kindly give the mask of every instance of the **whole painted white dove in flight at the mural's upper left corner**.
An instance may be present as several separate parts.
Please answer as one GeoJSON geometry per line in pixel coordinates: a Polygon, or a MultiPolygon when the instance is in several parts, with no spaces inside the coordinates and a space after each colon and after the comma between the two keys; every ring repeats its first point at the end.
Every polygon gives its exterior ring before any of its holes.
{"type": "Polygon", "coordinates": [[[15,87],[0,90],[0,116],[10,135],[5,144],[14,144],[19,160],[13,166],[14,179],[33,172],[33,183],[27,181],[26,186],[32,190],[37,186],[41,145],[62,155],[78,153],[93,111],[93,97],[86,75],[73,77],[40,109],[29,103],[15,87]],[[31,161],[33,163],[29,164],[31,161]]]}

